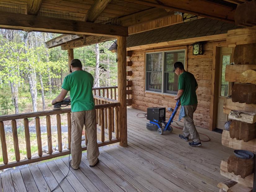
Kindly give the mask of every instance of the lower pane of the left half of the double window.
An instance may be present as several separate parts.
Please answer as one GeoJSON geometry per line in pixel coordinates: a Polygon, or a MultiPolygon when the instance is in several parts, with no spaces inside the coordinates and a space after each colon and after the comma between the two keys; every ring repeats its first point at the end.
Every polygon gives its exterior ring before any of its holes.
{"type": "Polygon", "coordinates": [[[146,73],[146,90],[162,92],[162,72],[146,73]]]}

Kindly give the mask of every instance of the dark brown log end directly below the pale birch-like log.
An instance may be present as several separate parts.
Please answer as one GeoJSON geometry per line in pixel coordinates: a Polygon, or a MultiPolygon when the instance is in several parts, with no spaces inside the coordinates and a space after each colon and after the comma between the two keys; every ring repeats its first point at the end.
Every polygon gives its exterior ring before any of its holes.
{"type": "Polygon", "coordinates": [[[232,139],[236,138],[245,142],[253,140],[256,138],[256,123],[233,120],[229,128],[229,135],[232,139]]]}

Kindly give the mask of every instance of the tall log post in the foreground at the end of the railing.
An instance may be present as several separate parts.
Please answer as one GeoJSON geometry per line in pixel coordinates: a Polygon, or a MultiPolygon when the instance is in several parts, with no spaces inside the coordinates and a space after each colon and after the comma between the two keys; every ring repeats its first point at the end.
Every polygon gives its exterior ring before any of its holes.
{"type": "Polygon", "coordinates": [[[127,146],[127,105],[126,105],[126,37],[117,38],[118,101],[120,146],[127,146]]]}

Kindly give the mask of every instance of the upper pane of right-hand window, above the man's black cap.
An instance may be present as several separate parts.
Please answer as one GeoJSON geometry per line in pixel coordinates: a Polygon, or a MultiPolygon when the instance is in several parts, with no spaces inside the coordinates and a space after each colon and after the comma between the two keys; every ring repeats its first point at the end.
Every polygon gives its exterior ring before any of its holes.
{"type": "Polygon", "coordinates": [[[180,61],[184,64],[185,51],[165,52],[165,67],[164,71],[173,72],[173,65],[175,62],[180,61]]]}

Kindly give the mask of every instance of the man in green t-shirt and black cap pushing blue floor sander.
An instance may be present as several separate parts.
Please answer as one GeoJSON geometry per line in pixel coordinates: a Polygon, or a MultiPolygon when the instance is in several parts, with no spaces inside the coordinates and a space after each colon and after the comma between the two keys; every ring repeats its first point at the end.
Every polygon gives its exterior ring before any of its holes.
{"type": "Polygon", "coordinates": [[[195,91],[198,88],[198,84],[194,75],[185,71],[182,62],[177,61],[174,63],[173,71],[179,76],[178,93],[175,100],[181,100],[180,113],[185,112],[183,135],[179,135],[179,137],[188,141],[188,137],[191,135],[193,141],[188,144],[190,146],[201,146],[200,137],[193,121],[193,114],[197,108],[195,91]]]}

